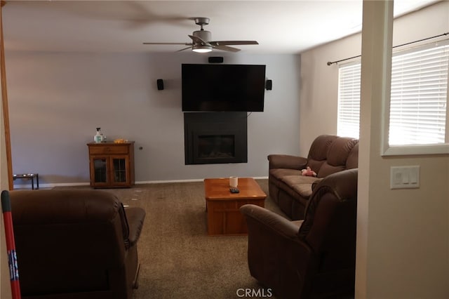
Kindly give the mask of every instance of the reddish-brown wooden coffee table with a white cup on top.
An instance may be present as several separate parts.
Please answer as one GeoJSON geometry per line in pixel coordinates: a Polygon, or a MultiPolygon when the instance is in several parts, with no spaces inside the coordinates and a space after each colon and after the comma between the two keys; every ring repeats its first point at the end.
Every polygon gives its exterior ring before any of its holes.
{"type": "Polygon", "coordinates": [[[267,197],[253,178],[239,178],[239,193],[229,191],[229,178],[206,178],[204,194],[208,234],[248,234],[246,220],[239,208],[244,204],[264,206],[267,197]]]}

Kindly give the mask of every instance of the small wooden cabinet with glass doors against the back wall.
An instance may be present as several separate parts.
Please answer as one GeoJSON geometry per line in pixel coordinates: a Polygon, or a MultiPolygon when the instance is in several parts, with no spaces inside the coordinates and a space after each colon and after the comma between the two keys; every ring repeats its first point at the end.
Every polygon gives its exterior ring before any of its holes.
{"type": "Polygon", "coordinates": [[[131,187],[134,185],[134,142],[87,144],[91,187],[131,187]]]}

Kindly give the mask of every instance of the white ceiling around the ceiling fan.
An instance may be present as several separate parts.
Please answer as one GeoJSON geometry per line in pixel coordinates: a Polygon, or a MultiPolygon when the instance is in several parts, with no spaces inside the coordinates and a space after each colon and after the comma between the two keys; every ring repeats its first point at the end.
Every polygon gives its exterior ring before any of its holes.
{"type": "MultiPolygon", "coordinates": [[[[403,15],[435,0],[396,0],[403,15]]],[[[350,1],[7,1],[7,51],[175,52],[199,26],[217,40],[255,40],[242,53],[300,53],[359,32],[361,0],[350,1]]],[[[187,50],[188,51],[188,50],[187,50]]],[[[217,53],[222,51],[215,50],[217,53]]]]}

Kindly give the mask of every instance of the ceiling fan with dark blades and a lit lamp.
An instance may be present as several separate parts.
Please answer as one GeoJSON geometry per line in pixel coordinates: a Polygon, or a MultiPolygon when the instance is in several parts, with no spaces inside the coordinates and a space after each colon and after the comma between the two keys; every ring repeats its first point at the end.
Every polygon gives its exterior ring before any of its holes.
{"type": "Polygon", "coordinates": [[[185,45],[187,48],[182,48],[179,51],[187,50],[192,48],[192,51],[198,53],[206,53],[212,51],[213,48],[229,51],[229,52],[239,52],[239,48],[230,47],[229,45],[258,45],[257,41],[210,41],[212,34],[210,31],[204,30],[203,26],[209,24],[209,18],[194,18],[195,24],[200,25],[201,29],[194,31],[193,35],[189,34],[192,39],[191,43],[143,43],[144,45],[185,45]]]}

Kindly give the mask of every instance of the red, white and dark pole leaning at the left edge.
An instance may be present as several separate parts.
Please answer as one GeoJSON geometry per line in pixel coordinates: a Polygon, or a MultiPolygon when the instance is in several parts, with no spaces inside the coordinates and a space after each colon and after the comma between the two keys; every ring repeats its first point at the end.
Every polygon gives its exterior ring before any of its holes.
{"type": "Polygon", "coordinates": [[[3,211],[5,225],[6,250],[8,251],[9,275],[11,277],[11,292],[13,299],[20,299],[19,267],[17,255],[15,254],[13,216],[11,214],[9,192],[6,190],[1,192],[1,210],[3,211]]]}

